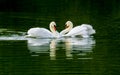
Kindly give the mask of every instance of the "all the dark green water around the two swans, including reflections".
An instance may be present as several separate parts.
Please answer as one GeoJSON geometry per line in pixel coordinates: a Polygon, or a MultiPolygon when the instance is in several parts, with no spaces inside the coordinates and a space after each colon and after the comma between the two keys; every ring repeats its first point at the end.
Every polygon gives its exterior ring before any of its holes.
{"type": "Polygon", "coordinates": [[[120,1],[0,1],[0,75],[119,75],[120,1]],[[57,30],[71,20],[93,38],[26,39],[31,27],[57,30]]]}

